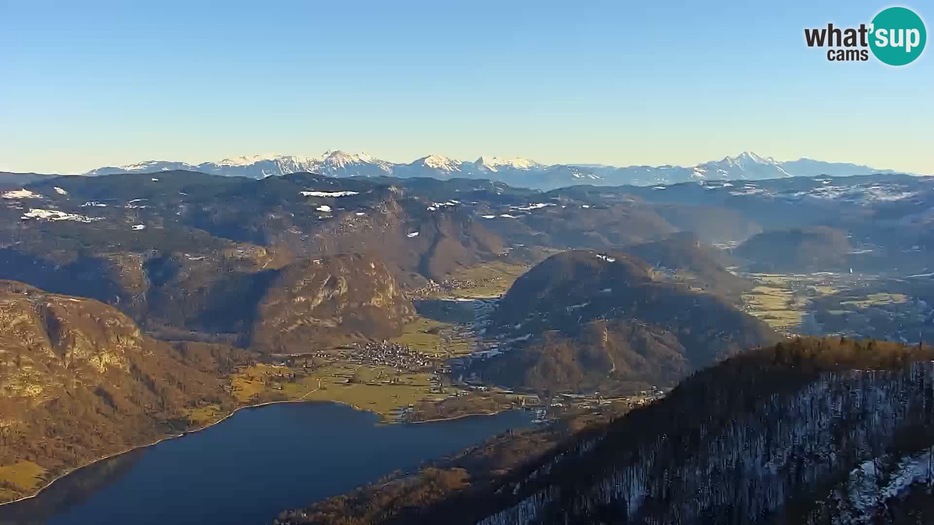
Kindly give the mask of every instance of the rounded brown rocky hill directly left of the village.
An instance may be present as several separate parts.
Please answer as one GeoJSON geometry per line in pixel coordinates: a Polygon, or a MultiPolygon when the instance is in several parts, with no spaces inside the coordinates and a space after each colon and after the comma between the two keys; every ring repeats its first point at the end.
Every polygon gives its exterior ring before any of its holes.
{"type": "Polygon", "coordinates": [[[253,348],[294,353],[402,333],[412,302],[373,256],[357,253],[282,268],[257,306],[253,348]]]}

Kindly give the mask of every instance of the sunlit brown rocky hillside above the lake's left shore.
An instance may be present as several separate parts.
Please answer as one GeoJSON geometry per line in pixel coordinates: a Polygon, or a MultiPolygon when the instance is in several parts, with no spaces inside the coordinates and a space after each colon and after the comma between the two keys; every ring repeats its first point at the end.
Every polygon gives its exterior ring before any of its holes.
{"type": "Polygon", "coordinates": [[[152,339],[93,299],[0,281],[0,467],[35,463],[48,479],[181,431],[188,407],[233,407],[220,376],[246,359],[152,339]]]}

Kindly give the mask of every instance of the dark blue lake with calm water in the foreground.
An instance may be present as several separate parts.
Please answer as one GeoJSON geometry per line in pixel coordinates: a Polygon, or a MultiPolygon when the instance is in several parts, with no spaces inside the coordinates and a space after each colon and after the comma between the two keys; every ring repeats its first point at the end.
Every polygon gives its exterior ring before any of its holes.
{"type": "Polygon", "coordinates": [[[531,416],[509,410],[418,424],[378,424],[344,404],[270,404],[67,475],[0,506],[0,523],[257,525],[279,511],[413,472],[531,416]]]}

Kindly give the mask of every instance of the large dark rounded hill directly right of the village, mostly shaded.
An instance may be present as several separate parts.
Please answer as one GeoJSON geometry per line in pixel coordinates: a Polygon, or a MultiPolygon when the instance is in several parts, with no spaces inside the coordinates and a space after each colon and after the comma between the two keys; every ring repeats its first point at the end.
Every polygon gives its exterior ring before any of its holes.
{"type": "Polygon", "coordinates": [[[535,390],[635,390],[777,340],[710,293],[622,252],[572,250],[519,277],[490,333],[517,349],[483,362],[485,378],[535,390]]]}

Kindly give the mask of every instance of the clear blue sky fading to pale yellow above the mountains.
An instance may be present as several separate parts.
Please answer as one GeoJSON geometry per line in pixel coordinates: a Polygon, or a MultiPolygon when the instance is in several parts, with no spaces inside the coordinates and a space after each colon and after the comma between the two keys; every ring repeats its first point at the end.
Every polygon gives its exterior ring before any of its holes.
{"type": "MultiPolygon", "coordinates": [[[[934,174],[934,50],[830,63],[889,4],[0,0],[0,169],[275,151],[934,174]]],[[[934,21],[934,4],[912,7],[934,21]]]]}

